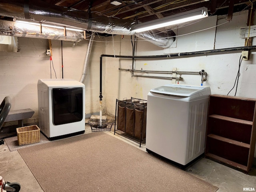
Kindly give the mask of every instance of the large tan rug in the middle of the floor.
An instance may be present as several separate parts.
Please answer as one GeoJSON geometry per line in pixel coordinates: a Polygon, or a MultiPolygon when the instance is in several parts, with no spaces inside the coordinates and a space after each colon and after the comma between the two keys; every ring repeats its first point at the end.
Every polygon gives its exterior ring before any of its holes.
{"type": "Polygon", "coordinates": [[[104,132],[18,152],[44,192],[216,192],[218,188],[104,132]]]}

